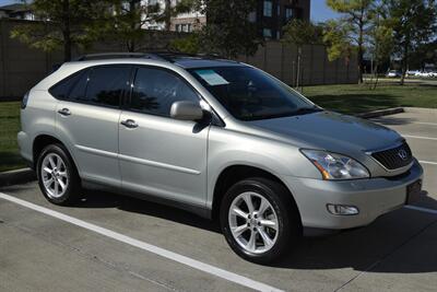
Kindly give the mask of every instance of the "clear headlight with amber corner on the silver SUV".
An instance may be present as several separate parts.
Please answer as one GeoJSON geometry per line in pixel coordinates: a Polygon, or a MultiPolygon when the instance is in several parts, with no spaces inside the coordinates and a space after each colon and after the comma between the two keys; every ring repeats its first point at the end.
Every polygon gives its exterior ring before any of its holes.
{"type": "Polygon", "coordinates": [[[302,150],[302,153],[319,170],[323,179],[354,179],[370,176],[363,164],[351,157],[318,150],[302,150]]]}

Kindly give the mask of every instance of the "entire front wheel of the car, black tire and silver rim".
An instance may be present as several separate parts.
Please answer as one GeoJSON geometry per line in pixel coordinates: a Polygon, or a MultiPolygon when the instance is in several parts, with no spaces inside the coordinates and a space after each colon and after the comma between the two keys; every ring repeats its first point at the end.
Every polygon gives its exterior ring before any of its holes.
{"type": "Polygon", "coordinates": [[[231,248],[238,256],[263,265],[285,256],[302,234],[300,217],[292,195],[283,185],[262,177],[240,180],[227,190],[220,221],[231,248]],[[239,209],[237,212],[233,211],[235,207],[239,209]]]}

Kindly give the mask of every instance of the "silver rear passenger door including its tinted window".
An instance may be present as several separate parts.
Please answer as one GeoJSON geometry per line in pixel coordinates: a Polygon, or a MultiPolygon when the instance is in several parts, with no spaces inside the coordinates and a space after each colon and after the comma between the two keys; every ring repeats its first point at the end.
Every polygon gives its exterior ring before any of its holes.
{"type": "Polygon", "coordinates": [[[58,103],[58,133],[68,141],[82,178],[121,184],[118,124],[130,74],[130,66],[93,67],[81,73],[68,97],[58,103]]]}

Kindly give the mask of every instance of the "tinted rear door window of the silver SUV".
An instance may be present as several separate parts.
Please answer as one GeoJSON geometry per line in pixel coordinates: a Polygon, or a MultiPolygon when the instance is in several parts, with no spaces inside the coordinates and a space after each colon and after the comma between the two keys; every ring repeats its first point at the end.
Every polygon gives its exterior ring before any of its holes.
{"type": "Polygon", "coordinates": [[[88,77],[86,95],[76,101],[118,107],[129,78],[130,67],[128,66],[93,68],[88,77]]]}

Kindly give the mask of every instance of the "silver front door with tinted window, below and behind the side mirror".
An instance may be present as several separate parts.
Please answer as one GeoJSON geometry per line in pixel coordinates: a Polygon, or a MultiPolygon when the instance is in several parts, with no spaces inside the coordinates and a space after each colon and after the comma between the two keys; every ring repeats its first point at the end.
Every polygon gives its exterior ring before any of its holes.
{"type": "Polygon", "coordinates": [[[176,101],[200,102],[177,73],[139,67],[119,125],[122,186],[204,207],[209,125],[170,118],[176,101]]]}

